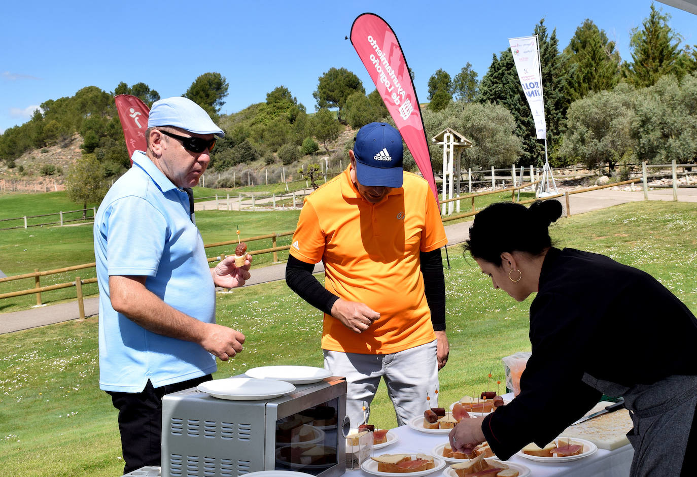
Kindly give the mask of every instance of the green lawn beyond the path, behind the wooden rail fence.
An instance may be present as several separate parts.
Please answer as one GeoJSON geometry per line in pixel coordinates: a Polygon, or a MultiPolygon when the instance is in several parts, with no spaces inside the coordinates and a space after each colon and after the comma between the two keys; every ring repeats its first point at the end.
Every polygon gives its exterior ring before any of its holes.
{"type": "MultiPolygon", "coordinates": [[[[263,186],[256,186],[260,190],[263,186]]],[[[227,192],[220,189],[194,188],[195,197],[211,197],[218,193],[225,197],[227,192]]],[[[500,193],[477,197],[475,206],[483,209],[491,202],[510,199],[510,193],[500,193]]],[[[533,197],[532,192],[521,194],[521,199],[533,197]]],[[[289,205],[291,199],[286,199],[289,205]]],[[[277,202],[277,206],[281,206],[277,202]]],[[[17,217],[27,211],[40,211],[49,213],[60,210],[74,210],[75,204],[68,201],[65,192],[49,192],[46,194],[18,194],[0,195],[0,218],[17,217]],[[3,209],[6,206],[6,209],[3,209]]],[[[470,199],[465,199],[461,204],[461,211],[470,210],[470,199]]],[[[32,212],[33,213],[33,212],[32,212]]],[[[91,215],[91,211],[89,213],[91,215]]],[[[237,227],[240,229],[240,237],[245,239],[252,236],[267,235],[272,233],[292,232],[298,223],[299,210],[285,211],[199,211],[196,213],[196,222],[201,230],[204,243],[218,243],[236,240],[237,227]]],[[[47,219],[46,219],[47,220],[47,219]]],[[[56,220],[51,218],[50,221],[56,220]]],[[[455,223],[464,218],[446,222],[455,223]]],[[[3,222],[0,222],[2,224],[3,222]]],[[[45,226],[29,227],[28,229],[0,230],[0,270],[6,275],[20,275],[31,273],[38,268],[39,271],[55,270],[67,266],[89,264],[94,262],[94,248],[92,239],[92,223],[82,222],[66,227],[45,226]]],[[[1,228],[1,225],[0,225],[1,228]]],[[[277,239],[277,246],[290,245],[291,236],[277,239]]],[[[272,247],[271,239],[250,242],[250,250],[262,250],[272,247]]],[[[206,255],[215,257],[230,255],[234,251],[233,245],[222,245],[208,248],[206,255]]],[[[277,253],[279,261],[288,258],[288,252],[277,253]]],[[[273,255],[263,254],[254,256],[254,266],[264,266],[273,262],[273,255]]],[[[76,277],[82,280],[95,277],[94,268],[85,268],[79,271],[70,271],[55,275],[47,275],[40,278],[40,285],[56,285],[75,281],[76,277]]],[[[33,278],[0,283],[0,294],[16,292],[35,287],[33,278]]],[[[97,285],[84,285],[83,294],[90,296],[98,293],[97,285]]],[[[59,303],[75,298],[75,287],[52,290],[41,295],[44,304],[59,303]]],[[[35,295],[3,298],[0,300],[0,312],[24,310],[36,305],[35,295]]]]}

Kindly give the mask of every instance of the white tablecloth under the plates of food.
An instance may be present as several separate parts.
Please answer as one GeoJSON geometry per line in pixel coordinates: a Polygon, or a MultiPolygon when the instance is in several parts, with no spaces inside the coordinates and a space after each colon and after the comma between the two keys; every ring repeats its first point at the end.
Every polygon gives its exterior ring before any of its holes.
{"type": "MultiPolygon", "coordinates": [[[[447,442],[447,434],[426,434],[413,430],[406,425],[392,429],[391,432],[397,434],[397,442],[374,450],[374,455],[398,453],[430,454],[434,447],[447,442]]],[[[629,476],[629,466],[633,456],[634,449],[627,444],[615,450],[598,449],[588,457],[562,464],[534,462],[519,455],[511,457],[510,462],[528,467],[531,477],[625,477],[629,476]]],[[[446,464],[446,468],[447,465],[450,464],[446,464]]],[[[362,470],[346,471],[346,475],[348,477],[374,477],[372,474],[362,470]]],[[[432,476],[438,476],[438,474],[432,474],[432,476]]]]}

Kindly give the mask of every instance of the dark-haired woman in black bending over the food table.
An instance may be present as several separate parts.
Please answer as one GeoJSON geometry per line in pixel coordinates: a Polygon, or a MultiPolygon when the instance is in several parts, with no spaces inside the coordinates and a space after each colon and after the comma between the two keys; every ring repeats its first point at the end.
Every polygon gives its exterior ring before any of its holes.
{"type": "Polygon", "coordinates": [[[450,443],[486,440],[508,459],[530,442],[546,446],[605,393],[625,398],[634,423],[632,476],[697,475],[697,320],[648,273],[554,248],[548,227],[561,213],[556,200],[491,204],[470,227],[465,248],[494,288],[516,301],[537,292],[533,353],[521,393],[460,421],[450,443]]]}

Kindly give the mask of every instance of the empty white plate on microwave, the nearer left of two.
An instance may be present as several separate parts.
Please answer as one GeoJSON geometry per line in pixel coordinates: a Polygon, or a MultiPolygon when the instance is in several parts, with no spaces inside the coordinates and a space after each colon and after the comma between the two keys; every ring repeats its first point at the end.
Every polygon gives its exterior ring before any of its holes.
{"type": "Polygon", "coordinates": [[[254,401],[278,398],[292,393],[296,386],[277,379],[225,378],[206,381],[199,384],[197,389],[214,398],[254,401]]]}

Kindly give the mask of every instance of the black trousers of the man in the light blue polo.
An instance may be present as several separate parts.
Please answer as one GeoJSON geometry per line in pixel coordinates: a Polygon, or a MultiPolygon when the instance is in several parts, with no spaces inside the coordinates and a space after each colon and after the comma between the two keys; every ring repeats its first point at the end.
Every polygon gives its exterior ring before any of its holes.
{"type": "Polygon", "coordinates": [[[121,432],[123,474],[148,466],[160,466],[162,444],[162,396],[193,388],[213,377],[189,379],[181,383],[153,388],[148,379],[141,393],[118,393],[107,391],[118,409],[118,430],[121,432]]]}

